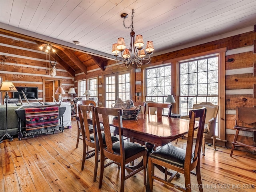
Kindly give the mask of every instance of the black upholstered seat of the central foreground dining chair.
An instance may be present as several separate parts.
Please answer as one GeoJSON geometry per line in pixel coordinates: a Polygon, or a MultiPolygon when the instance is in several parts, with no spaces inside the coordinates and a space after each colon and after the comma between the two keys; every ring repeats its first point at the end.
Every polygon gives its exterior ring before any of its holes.
{"type": "MultiPolygon", "coordinates": [[[[120,154],[120,142],[113,143],[112,149],[114,151],[114,154],[120,154]]],[[[143,150],[145,150],[144,146],[138,145],[136,143],[124,141],[125,158],[129,158],[143,150]]]]}

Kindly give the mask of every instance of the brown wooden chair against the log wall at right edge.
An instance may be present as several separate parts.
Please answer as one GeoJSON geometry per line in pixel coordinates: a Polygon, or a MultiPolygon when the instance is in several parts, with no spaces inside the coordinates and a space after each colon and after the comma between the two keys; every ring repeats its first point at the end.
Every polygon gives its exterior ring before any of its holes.
{"type": "Polygon", "coordinates": [[[230,152],[230,157],[232,157],[235,147],[248,147],[256,151],[256,146],[244,144],[237,141],[239,131],[250,131],[253,132],[253,140],[256,141],[256,108],[255,107],[236,107],[236,134],[234,136],[234,141],[232,142],[232,148],[230,152]]]}

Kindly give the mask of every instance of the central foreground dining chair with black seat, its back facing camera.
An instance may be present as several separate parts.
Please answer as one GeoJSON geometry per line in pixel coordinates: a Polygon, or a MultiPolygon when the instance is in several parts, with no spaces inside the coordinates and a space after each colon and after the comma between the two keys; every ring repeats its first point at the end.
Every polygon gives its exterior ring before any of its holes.
{"type": "Polygon", "coordinates": [[[123,123],[122,123],[122,109],[118,108],[103,108],[96,107],[94,108],[94,115],[96,119],[96,126],[98,131],[98,138],[100,143],[100,182],[99,188],[102,186],[103,174],[104,174],[104,159],[105,157],[114,161],[118,166],[121,167],[121,186],[120,192],[124,191],[124,181],[134,174],[144,170],[144,185],[146,185],[146,163],[147,163],[147,151],[144,146],[135,144],[132,142],[124,141],[123,138],[123,123]],[[102,116],[106,146],[104,147],[104,142],[100,133],[100,120],[99,115],[102,116]],[[111,142],[111,133],[110,133],[110,122],[109,118],[111,116],[116,116],[118,121],[118,131],[119,131],[119,142],[111,142]],[[143,157],[143,166],[136,170],[132,170],[127,167],[126,164],[136,160],[139,157],[143,157]],[[129,174],[125,175],[125,169],[129,171],[129,174]]]}

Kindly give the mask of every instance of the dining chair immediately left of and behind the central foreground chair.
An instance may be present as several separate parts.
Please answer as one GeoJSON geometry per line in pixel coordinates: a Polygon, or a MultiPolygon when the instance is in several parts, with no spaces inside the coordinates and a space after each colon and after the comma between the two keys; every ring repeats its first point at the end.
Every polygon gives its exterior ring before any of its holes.
{"type": "MultiPolygon", "coordinates": [[[[98,169],[99,142],[98,142],[98,135],[97,135],[97,131],[96,131],[95,118],[93,118],[93,115],[92,115],[92,129],[89,128],[90,126],[89,126],[88,120],[87,120],[87,113],[92,112],[94,107],[95,106],[78,105],[78,114],[79,114],[82,139],[83,139],[83,157],[82,157],[81,170],[84,170],[84,163],[85,163],[86,158],[91,158],[91,157],[95,156],[94,177],[93,177],[93,181],[95,182],[96,178],[97,178],[97,169],[98,169]],[[93,150],[89,151],[88,146],[93,148],[93,150]]],[[[100,127],[100,130],[101,130],[101,127],[100,127]]],[[[102,135],[102,138],[104,138],[103,133],[100,135],[102,135]]],[[[118,138],[111,136],[110,141],[116,142],[116,141],[118,141],[118,138]]],[[[106,147],[105,140],[103,141],[103,146],[106,147]]]]}

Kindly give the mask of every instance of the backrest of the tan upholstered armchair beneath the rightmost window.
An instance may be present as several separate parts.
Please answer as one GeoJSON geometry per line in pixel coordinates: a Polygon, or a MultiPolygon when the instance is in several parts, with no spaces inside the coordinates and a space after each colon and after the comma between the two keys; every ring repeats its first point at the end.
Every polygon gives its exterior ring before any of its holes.
{"type": "Polygon", "coordinates": [[[202,102],[198,104],[193,105],[193,109],[199,109],[205,107],[207,110],[206,117],[205,117],[205,122],[208,122],[211,118],[215,119],[215,124],[216,124],[216,117],[218,114],[219,106],[214,105],[210,102],[202,102]]]}

